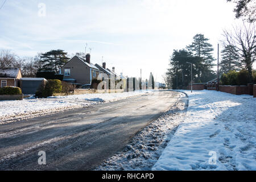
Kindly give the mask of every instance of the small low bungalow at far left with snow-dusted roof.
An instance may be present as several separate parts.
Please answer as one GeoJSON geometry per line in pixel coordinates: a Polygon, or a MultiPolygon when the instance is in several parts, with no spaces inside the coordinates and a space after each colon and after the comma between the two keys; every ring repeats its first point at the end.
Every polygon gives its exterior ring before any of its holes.
{"type": "Polygon", "coordinates": [[[19,86],[19,79],[22,78],[20,68],[0,68],[0,87],[19,86]]]}

